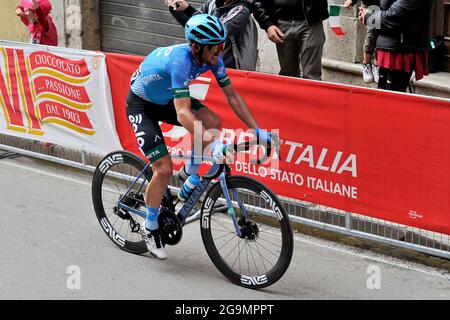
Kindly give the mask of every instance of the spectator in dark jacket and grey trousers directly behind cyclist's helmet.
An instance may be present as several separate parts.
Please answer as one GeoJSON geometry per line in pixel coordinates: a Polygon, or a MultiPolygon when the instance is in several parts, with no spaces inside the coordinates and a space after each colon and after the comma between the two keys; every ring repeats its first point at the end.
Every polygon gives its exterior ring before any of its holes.
{"type": "Polygon", "coordinates": [[[227,27],[228,40],[222,57],[225,67],[254,71],[258,58],[258,30],[251,18],[253,0],[207,0],[195,10],[185,0],[168,0],[170,12],[184,27],[195,14],[218,17],[227,27]]]}

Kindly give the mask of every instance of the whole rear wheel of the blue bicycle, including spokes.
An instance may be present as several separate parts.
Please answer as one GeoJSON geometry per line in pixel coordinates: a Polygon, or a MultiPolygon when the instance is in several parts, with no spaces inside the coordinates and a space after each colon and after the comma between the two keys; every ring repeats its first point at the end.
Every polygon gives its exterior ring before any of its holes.
{"type": "MultiPolygon", "coordinates": [[[[118,202],[144,167],[145,162],[130,152],[113,152],[100,161],[92,179],[92,201],[103,231],[119,248],[136,254],[147,252],[139,234],[140,223],[144,219],[119,210],[118,202]]],[[[123,203],[145,211],[144,194],[151,177],[149,168],[124,197],[123,203]]]]}

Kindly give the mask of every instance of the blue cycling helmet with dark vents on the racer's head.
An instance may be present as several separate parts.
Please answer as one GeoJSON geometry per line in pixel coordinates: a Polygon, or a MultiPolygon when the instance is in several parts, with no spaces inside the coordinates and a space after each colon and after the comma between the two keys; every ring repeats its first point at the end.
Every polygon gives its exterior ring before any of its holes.
{"type": "Polygon", "coordinates": [[[186,23],[186,39],[202,45],[225,42],[228,37],[226,26],[219,18],[209,14],[197,14],[186,23]]]}

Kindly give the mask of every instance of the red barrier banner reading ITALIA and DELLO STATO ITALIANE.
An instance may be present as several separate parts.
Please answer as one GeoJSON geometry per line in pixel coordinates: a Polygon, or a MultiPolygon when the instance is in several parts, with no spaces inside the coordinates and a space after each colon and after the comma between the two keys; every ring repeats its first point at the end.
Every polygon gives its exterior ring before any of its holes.
{"type": "MultiPolygon", "coordinates": [[[[136,153],[124,107],[142,59],[107,54],[120,139],[136,153]]],[[[259,179],[278,195],[450,234],[449,100],[260,73],[229,75],[261,127],[278,129],[282,139],[277,166],[238,161],[236,174],[259,179]]],[[[248,139],[211,74],[193,81],[191,93],[220,115],[225,140],[248,139]]],[[[163,131],[172,153],[186,152],[179,148],[186,131],[166,124],[163,131]]]]}

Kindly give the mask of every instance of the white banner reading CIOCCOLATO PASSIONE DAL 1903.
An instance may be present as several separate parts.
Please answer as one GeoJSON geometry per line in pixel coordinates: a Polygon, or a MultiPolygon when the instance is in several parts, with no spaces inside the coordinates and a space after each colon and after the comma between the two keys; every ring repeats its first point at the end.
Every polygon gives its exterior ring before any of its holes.
{"type": "Polygon", "coordinates": [[[121,149],[105,56],[0,42],[0,133],[106,153],[121,149]]]}

